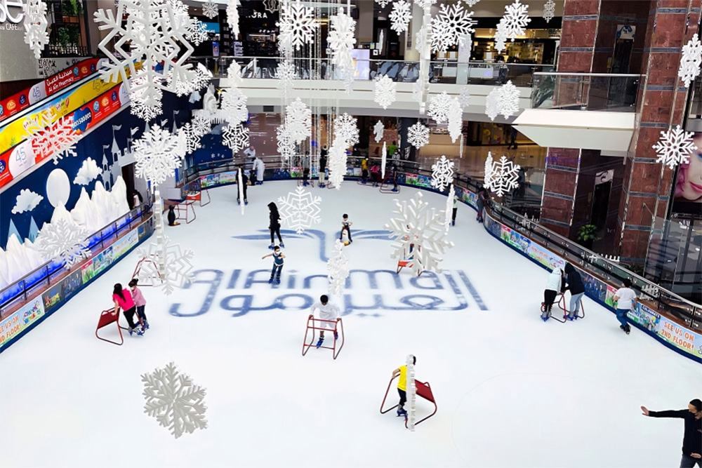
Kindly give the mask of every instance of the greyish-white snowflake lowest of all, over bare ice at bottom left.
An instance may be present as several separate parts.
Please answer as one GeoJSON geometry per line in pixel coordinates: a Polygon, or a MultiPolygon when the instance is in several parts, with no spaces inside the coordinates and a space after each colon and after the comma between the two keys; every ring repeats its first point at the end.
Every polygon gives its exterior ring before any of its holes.
{"type": "Polygon", "coordinates": [[[176,439],[195,429],[206,429],[206,389],[194,385],[189,375],[178,373],[175,363],[141,376],[144,382],[144,413],[170,429],[176,439]]]}

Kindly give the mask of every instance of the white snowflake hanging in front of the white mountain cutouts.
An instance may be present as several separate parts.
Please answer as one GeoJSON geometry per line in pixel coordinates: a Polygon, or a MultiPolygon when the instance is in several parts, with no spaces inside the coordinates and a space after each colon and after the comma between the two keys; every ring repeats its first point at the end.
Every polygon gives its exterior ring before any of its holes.
{"type": "Polygon", "coordinates": [[[65,262],[65,269],[90,258],[91,250],[88,248],[89,235],[87,229],[72,224],[65,219],[48,222],[39,232],[39,251],[44,258],[58,259],[65,262]]]}

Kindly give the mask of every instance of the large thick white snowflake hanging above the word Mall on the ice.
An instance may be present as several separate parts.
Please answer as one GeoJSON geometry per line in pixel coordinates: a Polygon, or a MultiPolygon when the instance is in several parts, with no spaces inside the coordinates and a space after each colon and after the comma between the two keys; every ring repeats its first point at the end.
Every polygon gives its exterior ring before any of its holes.
{"type": "Polygon", "coordinates": [[[416,192],[413,199],[400,203],[395,199],[396,218],[385,225],[395,236],[392,243],[390,258],[406,258],[411,255],[411,269],[415,274],[423,271],[441,273],[439,256],[446,248],[453,247],[453,242],[447,241],[444,232],[444,221],[441,213],[435,208],[429,209],[429,203],[422,200],[422,193],[416,192]],[[409,253],[413,244],[412,253],[409,253]]]}

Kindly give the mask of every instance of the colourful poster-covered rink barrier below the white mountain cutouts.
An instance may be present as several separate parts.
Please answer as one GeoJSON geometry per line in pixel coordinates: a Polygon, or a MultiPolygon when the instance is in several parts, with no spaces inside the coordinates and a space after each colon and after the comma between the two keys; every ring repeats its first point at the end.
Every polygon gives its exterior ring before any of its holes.
{"type": "MultiPolygon", "coordinates": [[[[153,219],[150,216],[129,229],[126,234],[114,239],[109,246],[74,267],[70,274],[41,289],[40,293],[27,300],[20,309],[0,320],[0,354],[149,239],[154,232],[153,219]]],[[[98,319],[97,314],[95,319],[98,319]]]]}

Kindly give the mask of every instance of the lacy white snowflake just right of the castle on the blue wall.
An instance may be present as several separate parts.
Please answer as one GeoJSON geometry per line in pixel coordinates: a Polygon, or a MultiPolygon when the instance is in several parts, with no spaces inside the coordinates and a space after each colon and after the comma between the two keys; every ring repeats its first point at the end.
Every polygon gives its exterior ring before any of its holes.
{"type": "Polygon", "coordinates": [[[159,185],[180,167],[185,156],[183,135],[171,135],[166,130],[154,125],[133,142],[136,175],[159,185]]]}

